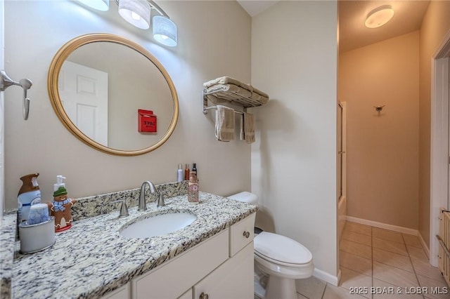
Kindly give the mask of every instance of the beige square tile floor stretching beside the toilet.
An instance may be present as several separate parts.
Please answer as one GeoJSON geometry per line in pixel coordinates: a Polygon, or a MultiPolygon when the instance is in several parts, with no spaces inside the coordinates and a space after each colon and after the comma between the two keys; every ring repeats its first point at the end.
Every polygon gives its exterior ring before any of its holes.
{"type": "Polygon", "coordinates": [[[340,270],[340,286],[315,277],[298,280],[297,299],[450,298],[441,273],[428,263],[418,237],[411,234],[347,222],[340,241],[340,270]]]}

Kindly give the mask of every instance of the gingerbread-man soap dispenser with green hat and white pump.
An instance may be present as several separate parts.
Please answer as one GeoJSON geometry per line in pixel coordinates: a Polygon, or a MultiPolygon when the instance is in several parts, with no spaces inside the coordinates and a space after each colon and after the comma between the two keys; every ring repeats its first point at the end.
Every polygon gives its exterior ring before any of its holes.
{"type": "Polygon", "coordinates": [[[76,200],[68,197],[63,175],[56,176],[53,185],[53,201],[48,202],[49,212],[55,217],[55,232],[63,232],[72,227],[72,206],[76,200]]]}

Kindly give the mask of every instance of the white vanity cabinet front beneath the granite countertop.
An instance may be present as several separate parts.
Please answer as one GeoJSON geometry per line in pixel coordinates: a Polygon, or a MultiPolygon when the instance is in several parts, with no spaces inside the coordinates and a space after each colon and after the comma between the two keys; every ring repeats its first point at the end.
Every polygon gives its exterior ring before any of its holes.
{"type": "Polygon", "coordinates": [[[255,213],[131,281],[131,298],[253,298],[255,213]]]}

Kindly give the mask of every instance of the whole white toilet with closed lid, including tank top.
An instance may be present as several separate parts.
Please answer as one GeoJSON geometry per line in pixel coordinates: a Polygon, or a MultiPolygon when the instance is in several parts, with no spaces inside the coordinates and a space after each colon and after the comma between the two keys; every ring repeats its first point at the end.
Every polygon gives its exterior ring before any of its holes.
{"type": "MultiPolygon", "coordinates": [[[[228,198],[254,205],[258,201],[257,195],[250,192],[228,198]]],[[[295,279],[311,277],[314,270],[311,252],[297,241],[271,232],[257,234],[254,242],[255,295],[262,299],[296,299],[295,279]]]]}

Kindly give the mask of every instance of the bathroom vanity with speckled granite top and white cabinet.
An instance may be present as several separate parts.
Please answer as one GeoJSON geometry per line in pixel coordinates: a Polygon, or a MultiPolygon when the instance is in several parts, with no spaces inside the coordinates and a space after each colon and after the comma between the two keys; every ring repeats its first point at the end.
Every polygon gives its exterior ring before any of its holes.
{"type": "Polygon", "coordinates": [[[44,251],[17,255],[12,298],[253,298],[256,206],[200,192],[75,221],[44,251]],[[192,213],[181,230],[127,239],[124,227],[161,213],[192,213]],[[56,283],[58,281],[58,283],[56,283]]]}

